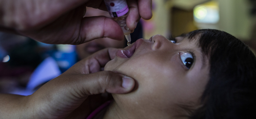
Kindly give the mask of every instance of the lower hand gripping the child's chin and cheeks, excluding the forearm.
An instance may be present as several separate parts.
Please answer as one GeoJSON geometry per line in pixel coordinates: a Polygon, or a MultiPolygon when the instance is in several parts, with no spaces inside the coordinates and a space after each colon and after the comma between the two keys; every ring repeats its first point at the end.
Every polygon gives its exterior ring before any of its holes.
{"type": "Polygon", "coordinates": [[[132,78],[113,71],[100,71],[113,59],[115,50],[96,52],[34,92],[30,99],[41,99],[33,102],[39,113],[44,113],[45,118],[66,117],[68,114],[85,118],[92,109],[91,102],[85,100],[90,95],[130,92],[134,87],[132,78]],[[76,113],[79,109],[84,111],[82,115],[76,113]]]}

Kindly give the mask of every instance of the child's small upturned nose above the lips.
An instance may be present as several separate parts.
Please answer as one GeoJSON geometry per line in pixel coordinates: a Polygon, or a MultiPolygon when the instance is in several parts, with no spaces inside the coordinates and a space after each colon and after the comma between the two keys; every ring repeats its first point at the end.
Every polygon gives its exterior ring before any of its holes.
{"type": "Polygon", "coordinates": [[[155,35],[155,36],[152,36],[149,41],[151,41],[153,43],[153,46],[152,46],[152,49],[153,50],[156,50],[156,49],[159,49],[161,48],[164,40],[166,40],[167,38],[165,38],[164,36],[162,35],[155,35]]]}

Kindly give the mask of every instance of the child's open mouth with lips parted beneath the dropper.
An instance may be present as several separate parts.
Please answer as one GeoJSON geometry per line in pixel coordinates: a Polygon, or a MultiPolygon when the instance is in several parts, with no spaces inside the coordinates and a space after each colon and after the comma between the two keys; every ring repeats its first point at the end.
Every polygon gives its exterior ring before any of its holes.
{"type": "Polygon", "coordinates": [[[134,54],[136,48],[139,47],[139,44],[141,44],[143,39],[138,39],[135,43],[130,45],[130,47],[126,50],[118,50],[116,52],[116,56],[121,57],[121,58],[130,58],[134,54]]]}

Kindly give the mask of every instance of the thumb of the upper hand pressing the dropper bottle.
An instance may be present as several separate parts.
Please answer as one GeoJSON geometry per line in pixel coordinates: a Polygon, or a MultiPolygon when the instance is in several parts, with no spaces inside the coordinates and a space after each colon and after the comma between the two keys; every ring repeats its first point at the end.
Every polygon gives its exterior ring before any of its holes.
{"type": "Polygon", "coordinates": [[[116,21],[105,16],[94,16],[82,19],[80,37],[82,38],[81,43],[85,43],[103,37],[123,40],[124,34],[116,21]]]}

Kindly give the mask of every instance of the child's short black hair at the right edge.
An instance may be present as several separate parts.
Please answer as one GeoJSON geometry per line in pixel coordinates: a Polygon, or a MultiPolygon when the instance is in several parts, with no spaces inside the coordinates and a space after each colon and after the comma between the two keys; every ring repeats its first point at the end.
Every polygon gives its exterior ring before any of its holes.
{"type": "Polygon", "coordinates": [[[256,119],[256,58],[250,48],[215,29],[200,29],[186,36],[199,38],[210,63],[202,107],[194,110],[190,119],[256,119]]]}

